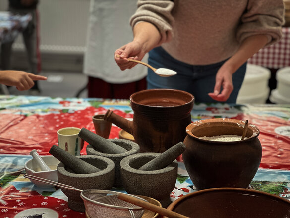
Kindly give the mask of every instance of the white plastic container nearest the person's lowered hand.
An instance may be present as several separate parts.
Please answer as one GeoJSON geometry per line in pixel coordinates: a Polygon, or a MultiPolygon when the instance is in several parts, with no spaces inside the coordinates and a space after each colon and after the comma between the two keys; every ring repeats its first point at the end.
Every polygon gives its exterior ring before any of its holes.
{"type": "Polygon", "coordinates": [[[269,69],[247,64],[245,78],[239,90],[236,103],[266,103],[270,90],[268,87],[270,76],[269,69]]]}

